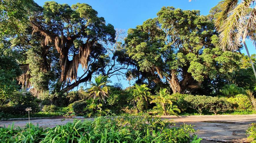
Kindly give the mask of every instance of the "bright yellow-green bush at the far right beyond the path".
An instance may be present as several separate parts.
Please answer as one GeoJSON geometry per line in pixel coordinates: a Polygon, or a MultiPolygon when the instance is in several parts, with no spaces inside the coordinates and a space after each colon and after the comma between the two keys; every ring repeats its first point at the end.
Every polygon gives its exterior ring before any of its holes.
{"type": "Polygon", "coordinates": [[[252,109],[250,98],[244,94],[237,94],[235,95],[235,97],[228,98],[227,101],[232,104],[235,104],[238,107],[238,109],[252,109]]]}

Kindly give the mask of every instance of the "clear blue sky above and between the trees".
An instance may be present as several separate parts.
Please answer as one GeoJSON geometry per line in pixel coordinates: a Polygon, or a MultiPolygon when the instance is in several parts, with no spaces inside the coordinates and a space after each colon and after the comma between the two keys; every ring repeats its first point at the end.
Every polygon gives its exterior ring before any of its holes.
{"type": "MultiPolygon", "coordinates": [[[[43,6],[46,0],[34,0],[40,6],[43,6]]],[[[156,13],[162,6],[174,6],[183,10],[200,10],[202,15],[209,14],[212,7],[218,4],[220,0],[55,0],[59,4],[87,3],[93,9],[98,11],[100,17],[104,17],[106,23],[114,25],[114,28],[128,30],[137,25],[141,25],[148,18],[156,17],[156,13]]],[[[252,42],[248,41],[247,46],[250,54],[255,54],[255,47],[252,42]]],[[[246,53],[245,49],[242,50],[246,53]]],[[[78,71],[82,74],[81,68],[78,71]]],[[[118,82],[117,79],[111,78],[112,83],[118,82]]],[[[129,84],[126,80],[121,81],[124,87],[129,84]]]]}

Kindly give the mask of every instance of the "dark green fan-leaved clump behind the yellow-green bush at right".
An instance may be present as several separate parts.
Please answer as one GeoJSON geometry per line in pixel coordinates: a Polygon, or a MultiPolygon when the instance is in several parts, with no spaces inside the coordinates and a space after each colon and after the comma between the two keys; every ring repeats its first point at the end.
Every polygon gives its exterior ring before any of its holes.
{"type": "Polygon", "coordinates": [[[237,87],[235,84],[225,85],[220,92],[226,97],[233,97],[237,94],[246,94],[242,87],[237,87]]]}

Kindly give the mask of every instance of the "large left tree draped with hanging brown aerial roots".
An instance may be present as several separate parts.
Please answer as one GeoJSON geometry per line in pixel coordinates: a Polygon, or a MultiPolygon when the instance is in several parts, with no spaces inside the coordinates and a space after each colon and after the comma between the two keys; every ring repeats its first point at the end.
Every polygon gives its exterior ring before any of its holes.
{"type": "Polygon", "coordinates": [[[116,31],[97,15],[88,4],[45,2],[41,11],[30,15],[26,33],[13,40],[14,46],[26,51],[27,72],[20,80],[39,91],[53,83],[67,92],[89,81],[95,72],[104,72],[109,56],[103,44],[114,43],[116,31]],[[77,77],[80,64],[84,74],[77,77]]]}

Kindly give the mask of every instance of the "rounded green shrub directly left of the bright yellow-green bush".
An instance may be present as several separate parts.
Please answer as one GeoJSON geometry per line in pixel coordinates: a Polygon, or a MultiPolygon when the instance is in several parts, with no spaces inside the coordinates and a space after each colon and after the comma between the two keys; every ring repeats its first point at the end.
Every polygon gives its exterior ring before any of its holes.
{"type": "Polygon", "coordinates": [[[226,101],[224,97],[208,97],[206,100],[207,109],[215,115],[218,112],[225,112],[232,109],[232,104],[226,101]]]}

